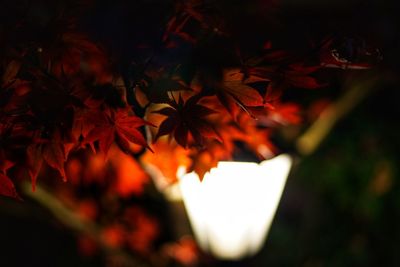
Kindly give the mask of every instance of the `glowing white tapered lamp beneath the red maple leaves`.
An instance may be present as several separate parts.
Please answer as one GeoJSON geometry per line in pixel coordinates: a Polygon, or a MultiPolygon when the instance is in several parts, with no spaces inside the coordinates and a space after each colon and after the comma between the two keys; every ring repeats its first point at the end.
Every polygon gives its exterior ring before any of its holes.
{"type": "Polygon", "coordinates": [[[292,160],[219,162],[204,176],[180,175],[183,201],[199,246],[221,259],[254,255],[275,215],[292,160]]]}

